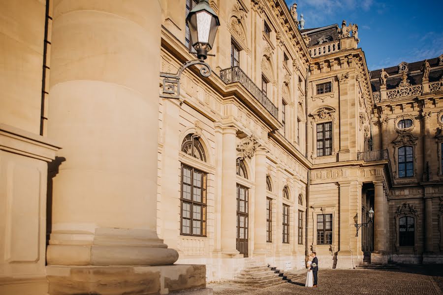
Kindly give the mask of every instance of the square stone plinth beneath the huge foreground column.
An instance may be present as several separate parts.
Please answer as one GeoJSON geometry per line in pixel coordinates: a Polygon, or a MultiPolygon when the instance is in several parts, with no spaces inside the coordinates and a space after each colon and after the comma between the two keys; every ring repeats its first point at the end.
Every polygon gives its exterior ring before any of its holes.
{"type": "Polygon", "coordinates": [[[49,295],[210,295],[206,266],[47,266],[49,295]],[[186,293],[181,293],[186,292],[186,293]]]}

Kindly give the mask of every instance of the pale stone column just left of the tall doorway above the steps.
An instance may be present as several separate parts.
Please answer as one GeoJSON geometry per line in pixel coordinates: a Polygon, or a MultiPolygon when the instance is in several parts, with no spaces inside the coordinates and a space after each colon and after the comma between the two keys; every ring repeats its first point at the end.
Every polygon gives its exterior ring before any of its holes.
{"type": "Polygon", "coordinates": [[[223,155],[221,172],[221,252],[239,254],[236,249],[236,136],[234,127],[223,128],[223,155]]]}

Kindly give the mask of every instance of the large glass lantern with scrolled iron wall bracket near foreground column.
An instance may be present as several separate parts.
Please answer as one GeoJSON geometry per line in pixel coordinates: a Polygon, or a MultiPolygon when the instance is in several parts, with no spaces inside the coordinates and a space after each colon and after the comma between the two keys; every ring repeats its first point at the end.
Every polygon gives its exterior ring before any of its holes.
{"type": "Polygon", "coordinates": [[[203,77],[209,77],[212,73],[211,67],[204,60],[214,45],[217,29],[220,26],[219,17],[209,5],[208,0],[200,0],[189,12],[186,22],[189,26],[191,45],[197,52],[198,59],[185,62],[175,75],[160,73],[160,77],[163,77],[163,92],[160,97],[180,98],[180,76],[191,65],[202,65],[200,75],[203,77]]]}

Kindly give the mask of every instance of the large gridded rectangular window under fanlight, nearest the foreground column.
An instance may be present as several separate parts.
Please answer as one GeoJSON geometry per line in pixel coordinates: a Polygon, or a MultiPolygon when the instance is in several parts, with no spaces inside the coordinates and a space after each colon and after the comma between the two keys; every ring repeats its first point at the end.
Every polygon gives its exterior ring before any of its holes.
{"type": "Polygon", "coordinates": [[[180,234],[206,236],[206,173],[182,164],[180,234]]]}

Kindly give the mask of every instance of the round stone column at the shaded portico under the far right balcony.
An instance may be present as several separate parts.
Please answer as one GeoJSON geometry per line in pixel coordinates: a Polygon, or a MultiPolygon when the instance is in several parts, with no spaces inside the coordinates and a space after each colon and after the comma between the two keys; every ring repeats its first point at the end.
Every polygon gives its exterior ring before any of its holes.
{"type": "Polygon", "coordinates": [[[386,253],[386,200],[383,190],[383,182],[374,182],[374,252],[371,262],[375,264],[387,263],[386,253]]]}

